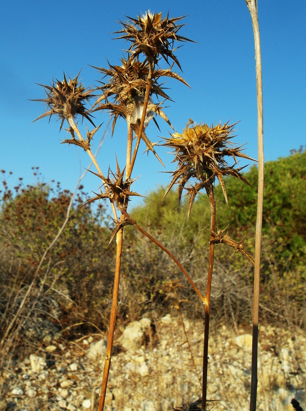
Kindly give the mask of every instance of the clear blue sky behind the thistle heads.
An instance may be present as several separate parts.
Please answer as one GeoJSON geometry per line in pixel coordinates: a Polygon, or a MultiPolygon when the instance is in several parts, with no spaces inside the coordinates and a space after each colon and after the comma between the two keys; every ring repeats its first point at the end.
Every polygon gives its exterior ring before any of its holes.
{"type": "MultiPolygon", "coordinates": [[[[118,20],[136,17],[148,9],[165,16],[188,15],[180,34],[197,43],[185,43],[176,51],[191,89],[169,81],[170,97],[164,111],[178,132],[188,118],[196,122],[239,122],[239,144],[247,143],[246,154],[257,158],[257,109],[254,40],[250,14],[244,0],[195,1],[10,1],[1,7],[0,35],[0,127],[2,148],[0,169],[12,171],[9,185],[19,177],[24,184],[35,183],[32,166],[39,166],[41,180],[60,181],[73,190],[80,172],[89,159],[74,146],[60,145],[55,118],[32,122],[45,111],[39,102],[44,91],[35,83],[49,84],[52,76],[63,79],[63,72],[75,76],[80,69],[86,86],[101,76],[92,67],[118,65],[123,40],[113,40],[111,32],[120,30],[118,20]]],[[[297,0],[258,0],[262,46],[264,96],[265,161],[290,154],[306,143],[306,2],[297,0]]],[[[178,67],[174,67],[180,72],[178,67]]],[[[96,123],[107,124],[107,113],[97,115],[96,123]]],[[[168,136],[169,127],[158,119],[160,132],[153,122],[147,129],[152,141],[168,136]],[[167,126],[167,127],[166,127],[167,126]]],[[[101,130],[103,131],[102,125],[101,130]]],[[[96,134],[93,151],[100,141],[96,134]]],[[[116,126],[113,139],[104,141],[98,162],[104,173],[114,168],[115,152],[121,167],[125,165],[126,127],[116,126]]],[[[141,155],[140,146],[133,177],[139,176],[134,189],[147,194],[158,185],[167,185],[169,174],[151,153],[141,155]]],[[[173,156],[158,148],[166,170],[173,156]]],[[[241,165],[247,164],[241,161],[241,165]]],[[[87,192],[97,190],[100,181],[87,175],[82,184],[87,192]]],[[[135,203],[135,202],[134,202],[135,203]]]]}

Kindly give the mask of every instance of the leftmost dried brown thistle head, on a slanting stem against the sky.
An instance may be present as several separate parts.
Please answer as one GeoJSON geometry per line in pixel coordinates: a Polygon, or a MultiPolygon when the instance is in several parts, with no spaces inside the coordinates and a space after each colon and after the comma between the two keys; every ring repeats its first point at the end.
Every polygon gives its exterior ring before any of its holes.
{"type": "Polygon", "coordinates": [[[88,111],[84,106],[86,101],[88,101],[91,97],[94,97],[91,94],[93,90],[84,88],[79,82],[78,77],[79,74],[74,77],[74,79],[69,78],[69,81],[67,81],[64,73],[64,80],[62,82],[56,80],[56,83],[53,81],[50,86],[39,84],[44,88],[47,98],[36,99],[34,101],[45,102],[48,109],[46,113],[40,115],[34,121],[48,115],[51,117],[51,115],[55,114],[62,120],[60,125],[61,129],[65,119],[70,116],[74,118],[77,114],[79,114],[93,124],[93,121],[90,119],[90,114],[88,114],[88,111]]]}

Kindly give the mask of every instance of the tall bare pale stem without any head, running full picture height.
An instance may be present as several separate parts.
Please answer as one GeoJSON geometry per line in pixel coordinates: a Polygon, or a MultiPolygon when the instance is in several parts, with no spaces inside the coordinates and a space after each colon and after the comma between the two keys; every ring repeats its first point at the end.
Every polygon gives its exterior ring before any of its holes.
{"type": "Polygon", "coordinates": [[[262,63],[260,51],[260,33],[257,15],[257,0],[246,0],[250,11],[255,43],[256,86],[257,86],[257,133],[258,133],[258,192],[257,215],[255,231],[255,267],[254,267],[254,297],[253,297],[253,341],[252,341],[252,371],[250,411],[256,410],[257,398],[257,355],[258,355],[258,317],[260,294],[260,248],[262,233],[262,208],[264,196],[264,142],[263,142],[263,104],[262,104],[262,63]]]}

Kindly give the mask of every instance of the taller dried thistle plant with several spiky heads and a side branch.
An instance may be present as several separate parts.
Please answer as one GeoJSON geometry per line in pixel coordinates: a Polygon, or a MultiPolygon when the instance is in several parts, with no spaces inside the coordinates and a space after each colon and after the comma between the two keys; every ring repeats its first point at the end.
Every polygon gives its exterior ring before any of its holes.
{"type": "Polygon", "coordinates": [[[140,140],[146,144],[148,151],[160,160],[155,152],[154,145],[146,136],[146,126],[155,115],[159,115],[170,126],[165,113],[163,113],[159,101],[154,102],[154,96],[170,99],[165,93],[162,85],[159,83],[161,77],[171,77],[188,85],[185,80],[172,71],[173,65],[176,64],[181,68],[178,59],[174,55],[174,45],[176,42],[192,41],[178,35],[178,30],[182,25],[177,24],[183,17],[169,18],[167,15],[162,18],[162,14],[154,14],[147,12],[144,16],[130,18],[127,23],[121,23],[123,29],[119,31],[120,39],[125,39],[130,42],[130,47],[126,57],[121,60],[121,65],[110,65],[109,69],[97,68],[105,76],[109,77],[109,81],[104,82],[97,88],[84,88],[79,81],[79,74],[74,79],[66,79],[64,74],[63,81],[53,81],[51,85],[42,85],[46,92],[46,98],[38,99],[47,104],[47,110],[40,115],[36,120],[56,115],[60,120],[60,129],[64,122],[68,123],[67,132],[71,138],[65,139],[63,143],[80,146],[85,150],[90,159],[93,161],[97,169],[94,173],[102,180],[100,193],[95,193],[95,196],[90,201],[108,198],[114,214],[114,232],[111,240],[116,236],[116,266],[114,276],[114,291],[111,306],[111,317],[109,323],[109,334],[107,341],[107,350],[105,356],[102,388],[100,393],[100,401],[98,410],[104,408],[104,400],[107,388],[107,380],[109,376],[109,368],[111,363],[111,350],[114,339],[114,328],[118,307],[118,287],[121,268],[121,254],[123,244],[123,227],[125,225],[134,225],[141,233],[147,236],[150,240],[161,247],[181,268],[186,275],[198,296],[204,302],[204,297],[199,292],[195,284],[192,282],[188,273],[184,270],[177,259],[165,248],[160,242],[146,233],[144,229],[138,226],[135,220],[130,218],[127,213],[127,207],[131,196],[137,196],[136,192],[131,190],[134,179],[131,178],[134,162],[137,156],[140,140]],[[165,60],[169,67],[162,69],[160,62],[165,60]],[[169,60],[173,62],[170,66],[169,60]],[[95,103],[89,108],[86,104],[91,99],[95,98],[95,103]],[[109,169],[107,177],[102,173],[95,156],[91,150],[92,139],[95,133],[100,128],[93,123],[93,113],[95,111],[110,111],[113,115],[113,130],[118,116],[123,117],[127,122],[127,159],[124,167],[119,167],[116,159],[116,172],[109,169]],[[94,127],[89,131],[87,128],[86,136],[83,136],[77,119],[81,116],[81,120],[85,118],[94,127]],[[137,136],[137,141],[133,148],[133,138],[137,136]],[[118,214],[120,216],[118,217],[118,214]]]}

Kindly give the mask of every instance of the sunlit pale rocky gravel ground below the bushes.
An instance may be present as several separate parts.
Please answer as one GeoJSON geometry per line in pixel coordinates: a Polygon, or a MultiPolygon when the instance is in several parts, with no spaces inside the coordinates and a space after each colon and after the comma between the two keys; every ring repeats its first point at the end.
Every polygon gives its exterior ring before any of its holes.
{"type": "MultiPolygon", "coordinates": [[[[104,409],[171,410],[201,394],[203,324],[170,314],[144,318],[117,339],[104,409]]],[[[208,407],[249,409],[251,328],[211,326],[208,407]]],[[[97,409],[104,367],[105,336],[74,342],[53,340],[2,371],[0,410],[97,409]]],[[[258,410],[290,410],[295,397],[305,409],[306,334],[297,328],[260,328],[258,410]]]]}

